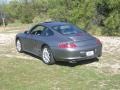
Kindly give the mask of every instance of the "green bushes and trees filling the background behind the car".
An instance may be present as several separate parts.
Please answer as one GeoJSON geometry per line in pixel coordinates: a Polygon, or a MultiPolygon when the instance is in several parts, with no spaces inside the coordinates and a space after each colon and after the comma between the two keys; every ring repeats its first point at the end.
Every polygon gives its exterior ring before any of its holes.
{"type": "Polygon", "coordinates": [[[88,31],[94,25],[102,27],[102,35],[120,35],[120,0],[12,0],[5,5],[5,11],[22,23],[52,19],[88,31]]]}

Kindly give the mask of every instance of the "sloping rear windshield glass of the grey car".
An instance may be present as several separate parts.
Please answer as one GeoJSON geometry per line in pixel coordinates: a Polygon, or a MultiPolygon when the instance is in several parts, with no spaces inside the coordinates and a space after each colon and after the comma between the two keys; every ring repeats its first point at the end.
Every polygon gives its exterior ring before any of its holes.
{"type": "Polygon", "coordinates": [[[77,34],[82,33],[82,30],[74,25],[58,25],[52,27],[54,30],[61,34],[77,34]]]}

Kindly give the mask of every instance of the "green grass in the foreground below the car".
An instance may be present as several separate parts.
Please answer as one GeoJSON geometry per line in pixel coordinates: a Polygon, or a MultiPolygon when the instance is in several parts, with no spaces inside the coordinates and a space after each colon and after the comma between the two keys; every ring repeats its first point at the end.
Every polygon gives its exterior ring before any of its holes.
{"type": "Polygon", "coordinates": [[[120,75],[85,65],[45,65],[41,60],[0,58],[0,90],[118,90],[120,75]]]}

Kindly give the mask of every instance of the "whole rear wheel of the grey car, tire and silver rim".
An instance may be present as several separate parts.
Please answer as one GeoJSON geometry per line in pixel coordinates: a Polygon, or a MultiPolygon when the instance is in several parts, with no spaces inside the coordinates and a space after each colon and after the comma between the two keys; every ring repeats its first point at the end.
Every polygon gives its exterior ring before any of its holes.
{"type": "Polygon", "coordinates": [[[55,63],[51,49],[48,46],[44,46],[42,49],[42,60],[47,65],[52,65],[55,63]]]}

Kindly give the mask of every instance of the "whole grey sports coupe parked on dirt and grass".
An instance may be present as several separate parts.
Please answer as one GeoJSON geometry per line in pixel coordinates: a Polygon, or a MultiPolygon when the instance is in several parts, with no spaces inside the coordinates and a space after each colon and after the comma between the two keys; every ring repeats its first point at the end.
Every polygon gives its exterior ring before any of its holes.
{"type": "Polygon", "coordinates": [[[102,54],[99,39],[66,22],[44,22],[16,35],[18,52],[40,56],[45,64],[55,61],[77,62],[102,54]]]}

